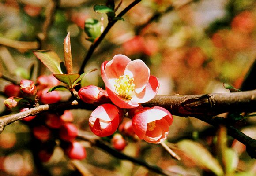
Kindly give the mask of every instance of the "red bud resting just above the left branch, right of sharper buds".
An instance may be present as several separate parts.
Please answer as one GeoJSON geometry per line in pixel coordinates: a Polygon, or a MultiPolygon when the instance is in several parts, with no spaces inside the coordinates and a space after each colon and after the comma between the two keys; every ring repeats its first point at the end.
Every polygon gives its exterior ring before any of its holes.
{"type": "Polygon", "coordinates": [[[60,101],[61,99],[60,92],[58,91],[52,91],[49,93],[47,92],[48,92],[48,88],[45,88],[44,90],[38,92],[38,97],[41,103],[52,104],[60,101]]]}

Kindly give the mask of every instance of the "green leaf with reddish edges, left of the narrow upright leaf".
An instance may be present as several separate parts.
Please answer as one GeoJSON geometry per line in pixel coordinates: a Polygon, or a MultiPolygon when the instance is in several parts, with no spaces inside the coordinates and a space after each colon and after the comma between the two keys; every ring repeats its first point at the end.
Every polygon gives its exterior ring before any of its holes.
{"type": "Polygon", "coordinates": [[[53,73],[53,74],[61,74],[63,73],[61,70],[61,60],[59,56],[50,50],[38,50],[38,51],[33,51],[34,55],[38,59],[45,64],[45,66],[53,73]]]}

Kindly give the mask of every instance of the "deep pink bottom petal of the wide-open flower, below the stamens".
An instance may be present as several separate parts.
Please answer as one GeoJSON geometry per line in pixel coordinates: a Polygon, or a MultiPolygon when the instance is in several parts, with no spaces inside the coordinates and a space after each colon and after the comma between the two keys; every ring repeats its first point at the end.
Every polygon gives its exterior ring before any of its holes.
{"type": "Polygon", "coordinates": [[[109,89],[108,87],[106,87],[106,91],[109,95],[109,99],[111,99],[111,101],[118,107],[120,108],[134,108],[139,106],[138,103],[136,102],[132,102],[131,100],[126,100],[122,97],[120,97],[119,95],[117,95],[115,92],[113,92],[111,89],[109,89]]]}

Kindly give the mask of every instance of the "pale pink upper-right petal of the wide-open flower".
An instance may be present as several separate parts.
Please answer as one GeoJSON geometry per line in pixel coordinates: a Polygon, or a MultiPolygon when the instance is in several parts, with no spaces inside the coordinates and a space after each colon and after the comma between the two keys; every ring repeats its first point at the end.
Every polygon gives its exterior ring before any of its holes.
{"type": "Polygon", "coordinates": [[[134,78],[135,92],[143,91],[149,80],[150,70],[142,60],[133,60],[129,62],[124,70],[124,75],[134,78]]]}

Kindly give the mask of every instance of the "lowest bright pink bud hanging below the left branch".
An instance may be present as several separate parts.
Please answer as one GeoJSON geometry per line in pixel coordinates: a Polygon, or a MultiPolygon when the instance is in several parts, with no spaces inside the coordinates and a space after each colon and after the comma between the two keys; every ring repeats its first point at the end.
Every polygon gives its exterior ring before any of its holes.
{"type": "Polygon", "coordinates": [[[72,142],[65,153],[70,159],[83,160],[86,158],[86,150],[79,142],[72,142]]]}

